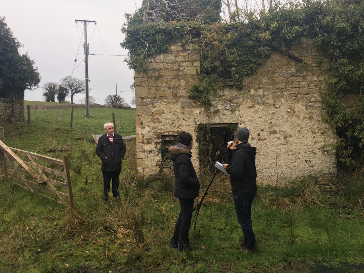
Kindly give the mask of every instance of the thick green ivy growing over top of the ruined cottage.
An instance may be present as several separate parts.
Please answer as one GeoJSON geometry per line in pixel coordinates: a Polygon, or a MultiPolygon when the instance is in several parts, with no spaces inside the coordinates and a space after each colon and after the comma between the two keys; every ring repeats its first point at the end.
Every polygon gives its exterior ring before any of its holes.
{"type": "Polygon", "coordinates": [[[165,7],[164,2],[154,0],[153,12],[147,6],[149,2],[143,1],[134,15],[126,15],[127,23],[122,28],[126,37],[120,45],[129,50],[129,67],[145,71],[146,59],[165,52],[171,39],[198,43],[200,82],[192,86],[189,98],[198,100],[206,110],[211,106],[209,96],[221,89],[226,79],[242,87],[244,76],[260,66],[272,45],[285,48],[298,37],[314,39],[330,63],[323,119],[334,127],[352,123],[344,137],[338,136],[329,148],[336,149],[339,161],[347,165],[355,160],[353,155],[358,155],[358,150],[353,153],[351,139],[356,139],[359,154],[363,153],[364,120],[358,122],[358,118],[364,116],[364,99],[353,108],[345,106],[341,99],[346,93],[363,94],[364,0],[305,0],[285,7],[277,4],[259,16],[253,12],[234,16],[230,24],[219,23],[218,1],[205,1],[203,8],[202,2],[192,1],[201,12],[189,13],[184,7],[184,16],[173,13],[175,5],[182,1],[174,0],[171,7],[165,7]]]}

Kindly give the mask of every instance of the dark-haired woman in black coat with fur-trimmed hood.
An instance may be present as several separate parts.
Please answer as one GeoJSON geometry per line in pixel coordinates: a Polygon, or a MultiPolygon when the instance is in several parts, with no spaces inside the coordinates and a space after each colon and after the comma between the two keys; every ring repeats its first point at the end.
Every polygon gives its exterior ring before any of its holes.
{"type": "Polygon", "coordinates": [[[191,226],[192,210],[195,198],[199,195],[200,184],[191,162],[192,136],[182,132],[178,136],[178,144],[171,146],[168,152],[173,161],[174,171],[174,197],[179,199],[181,212],[179,213],[171,247],[179,251],[190,248],[188,233],[191,226]]]}

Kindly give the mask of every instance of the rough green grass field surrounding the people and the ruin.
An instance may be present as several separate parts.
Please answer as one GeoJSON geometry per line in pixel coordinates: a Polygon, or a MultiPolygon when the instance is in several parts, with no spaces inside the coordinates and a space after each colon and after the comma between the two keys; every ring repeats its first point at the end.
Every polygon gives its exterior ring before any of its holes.
{"type": "MultiPolygon", "coordinates": [[[[100,160],[90,134],[102,134],[115,109],[32,111],[32,124],[5,127],[8,146],[71,158],[75,209],[0,183],[0,272],[273,272],[298,262],[364,262],[363,209],[320,194],[305,179],[259,187],[252,209],[256,254],[241,253],[229,181],[218,176],[191,229],[194,250],[169,246],[179,204],[173,177],[137,180],[135,138],[125,141],[120,202],[102,201],[100,160]],[[81,166],[80,174],[76,166],[81,166]],[[85,185],[86,175],[89,182],[85,185]]],[[[115,112],[116,113],[116,112],[115,112]]],[[[135,111],[119,110],[118,133],[135,134],[135,111]],[[122,122],[121,122],[122,118],[122,122]],[[123,128],[123,129],[122,129],[123,128]]],[[[201,191],[210,175],[200,177],[201,191]]],[[[288,271],[284,272],[297,272],[288,271]]]]}

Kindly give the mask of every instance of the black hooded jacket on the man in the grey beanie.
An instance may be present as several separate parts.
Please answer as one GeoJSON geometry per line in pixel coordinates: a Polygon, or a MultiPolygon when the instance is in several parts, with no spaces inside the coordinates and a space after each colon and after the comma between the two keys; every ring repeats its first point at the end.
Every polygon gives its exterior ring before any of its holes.
{"type": "Polygon", "coordinates": [[[257,148],[250,146],[249,143],[236,145],[231,165],[226,166],[233,194],[249,200],[257,194],[256,150],[257,148]]]}

